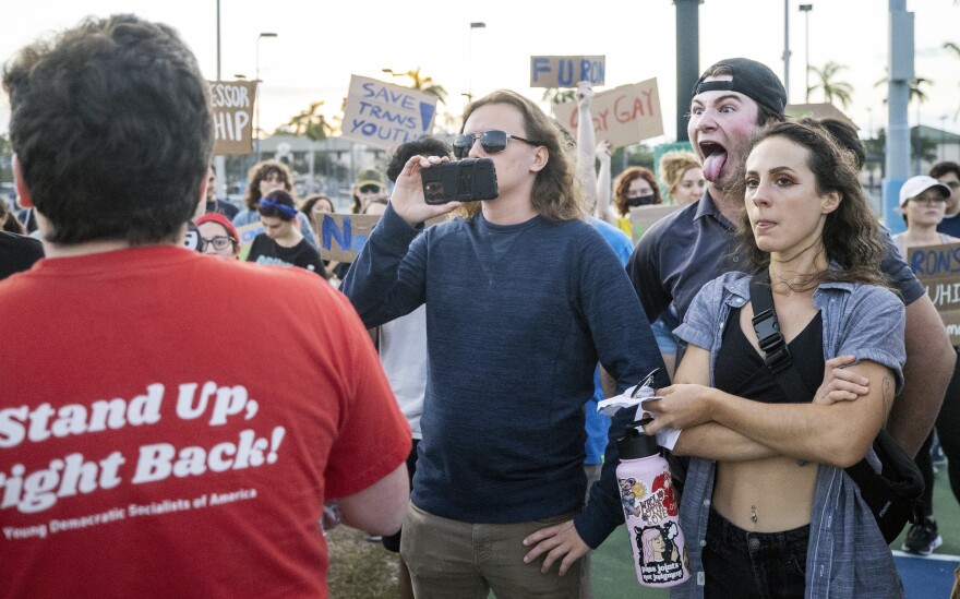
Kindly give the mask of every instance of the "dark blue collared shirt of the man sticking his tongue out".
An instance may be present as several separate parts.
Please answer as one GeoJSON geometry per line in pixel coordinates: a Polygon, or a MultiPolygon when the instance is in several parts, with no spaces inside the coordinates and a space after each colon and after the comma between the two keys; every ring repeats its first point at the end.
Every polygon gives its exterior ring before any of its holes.
{"type": "MultiPolygon", "coordinates": [[[[699,202],[650,227],[626,266],[647,319],[652,322],[673,301],[683,321],[704,285],[724,273],[748,269],[735,235],[736,228],[713,204],[709,190],[699,202]]],[[[886,228],[881,227],[881,235],[887,252],[880,268],[903,303],[910,304],[926,291],[900,259],[886,228]]]]}

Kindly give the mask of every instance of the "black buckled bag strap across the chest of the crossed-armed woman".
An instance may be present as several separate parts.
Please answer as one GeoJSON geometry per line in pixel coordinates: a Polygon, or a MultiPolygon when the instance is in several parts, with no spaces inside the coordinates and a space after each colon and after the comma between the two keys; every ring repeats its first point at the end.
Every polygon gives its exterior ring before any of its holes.
{"type": "Polygon", "coordinates": [[[787,339],[780,333],[780,323],[773,309],[770,273],[760,273],[751,280],[751,303],[754,307],[754,332],[764,352],[764,363],[773,373],[773,379],[787,394],[788,399],[794,404],[809,402],[809,391],[793,364],[793,356],[787,347],[787,339]]]}

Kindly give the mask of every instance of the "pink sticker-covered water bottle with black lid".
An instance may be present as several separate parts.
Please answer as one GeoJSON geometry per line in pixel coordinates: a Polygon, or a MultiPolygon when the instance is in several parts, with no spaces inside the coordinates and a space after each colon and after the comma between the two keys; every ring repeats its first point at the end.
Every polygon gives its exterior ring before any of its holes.
{"type": "Polygon", "coordinates": [[[655,588],[679,585],[689,578],[689,563],[670,466],[660,455],[657,438],[643,430],[628,428],[616,447],[616,482],[637,582],[655,588]]]}

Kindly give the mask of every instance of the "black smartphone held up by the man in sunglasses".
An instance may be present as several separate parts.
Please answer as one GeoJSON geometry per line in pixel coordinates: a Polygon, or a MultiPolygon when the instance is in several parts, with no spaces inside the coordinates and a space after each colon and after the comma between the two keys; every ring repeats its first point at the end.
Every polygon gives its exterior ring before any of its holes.
{"type": "Polygon", "coordinates": [[[420,171],[428,204],[493,200],[497,195],[496,170],[490,158],[464,158],[433,165],[420,171]]]}

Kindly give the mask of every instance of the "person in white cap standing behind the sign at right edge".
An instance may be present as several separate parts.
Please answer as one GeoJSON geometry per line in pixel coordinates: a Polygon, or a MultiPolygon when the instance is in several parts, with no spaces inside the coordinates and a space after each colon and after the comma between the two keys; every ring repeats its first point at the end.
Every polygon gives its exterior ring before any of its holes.
{"type": "MultiPolygon", "coordinates": [[[[926,175],[911,177],[900,188],[900,214],[907,223],[907,230],[895,235],[893,243],[908,264],[910,264],[909,250],[912,248],[960,242],[960,238],[937,230],[944,220],[950,191],[949,187],[926,175]]],[[[944,402],[946,404],[947,399],[944,402]]],[[[937,529],[937,520],[933,517],[934,468],[929,457],[931,443],[933,443],[933,432],[916,454],[916,466],[923,472],[925,484],[920,508],[922,519],[910,527],[902,547],[903,551],[921,555],[929,555],[944,544],[944,539],[937,529]]]]}

